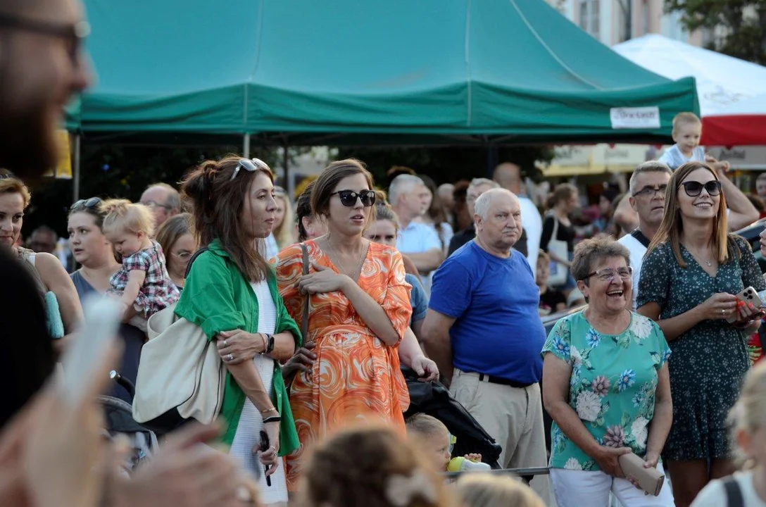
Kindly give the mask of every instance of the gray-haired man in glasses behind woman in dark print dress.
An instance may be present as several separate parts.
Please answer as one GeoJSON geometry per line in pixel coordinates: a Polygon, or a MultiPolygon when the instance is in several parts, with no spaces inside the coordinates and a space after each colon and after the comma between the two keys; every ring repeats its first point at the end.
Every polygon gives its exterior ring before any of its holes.
{"type": "Polygon", "coordinates": [[[633,267],[632,309],[636,309],[643,254],[647,253],[647,247],[663,221],[665,193],[672,174],[673,171],[663,162],[650,160],[638,165],[630,176],[628,201],[638,216],[638,227],[618,241],[630,251],[630,266],[633,267]]]}

